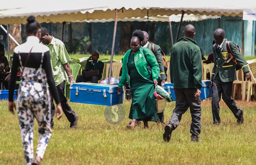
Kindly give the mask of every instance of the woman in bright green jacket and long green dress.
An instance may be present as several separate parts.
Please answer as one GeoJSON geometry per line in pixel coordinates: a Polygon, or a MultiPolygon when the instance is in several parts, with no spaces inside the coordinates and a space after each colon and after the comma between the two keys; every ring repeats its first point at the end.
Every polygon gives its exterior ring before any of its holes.
{"type": "Polygon", "coordinates": [[[137,120],[143,120],[144,128],[148,128],[148,121],[157,121],[154,85],[157,85],[159,66],[153,52],[141,47],[143,39],[144,34],[141,30],[132,33],[131,50],[123,57],[123,72],[118,84],[117,92],[120,92],[126,82],[131,88],[129,118],[132,119],[132,123],[127,128],[134,128],[137,120]],[[149,66],[151,71],[148,70],[149,66]]]}

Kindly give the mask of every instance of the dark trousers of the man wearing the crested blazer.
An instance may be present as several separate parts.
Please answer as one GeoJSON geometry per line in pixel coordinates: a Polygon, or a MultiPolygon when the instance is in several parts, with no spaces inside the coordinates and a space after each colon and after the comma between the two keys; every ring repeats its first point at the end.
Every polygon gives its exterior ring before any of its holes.
{"type": "Polygon", "coordinates": [[[220,122],[219,117],[219,101],[221,100],[221,95],[223,101],[227,104],[228,108],[232,111],[234,116],[238,118],[241,113],[240,108],[237,107],[236,101],[231,98],[232,95],[232,84],[230,82],[222,82],[217,73],[215,79],[213,80],[213,96],[212,96],[212,116],[213,122],[220,122]]]}

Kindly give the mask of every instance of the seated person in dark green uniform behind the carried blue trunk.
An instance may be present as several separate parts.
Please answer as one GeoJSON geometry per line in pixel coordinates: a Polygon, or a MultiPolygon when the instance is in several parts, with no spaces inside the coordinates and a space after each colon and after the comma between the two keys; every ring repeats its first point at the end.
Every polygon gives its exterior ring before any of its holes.
{"type": "Polygon", "coordinates": [[[90,70],[99,70],[99,75],[98,76],[93,76],[91,78],[85,78],[82,75],[77,76],[76,82],[86,82],[90,81],[92,83],[98,83],[98,80],[102,78],[102,73],[103,73],[103,68],[104,68],[104,63],[101,61],[98,61],[99,59],[99,53],[93,52],[91,56],[87,59],[87,63],[85,65],[85,70],[90,71],[90,70]],[[91,61],[92,60],[92,61],[91,61]]]}

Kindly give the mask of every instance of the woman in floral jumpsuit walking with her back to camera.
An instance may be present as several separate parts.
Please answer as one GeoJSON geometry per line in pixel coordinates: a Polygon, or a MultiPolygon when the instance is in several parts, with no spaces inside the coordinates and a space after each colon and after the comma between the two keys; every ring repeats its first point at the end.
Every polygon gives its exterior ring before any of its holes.
{"type": "Polygon", "coordinates": [[[57,103],[55,112],[57,119],[62,116],[62,108],[53,80],[49,48],[39,43],[41,26],[34,16],[27,18],[25,25],[27,42],[14,49],[12,74],[9,90],[9,111],[16,109],[13,102],[15,78],[18,67],[22,75],[17,97],[17,113],[19,119],[20,135],[23,144],[25,162],[27,165],[39,165],[51,137],[51,100],[49,88],[54,94],[57,103]],[[33,161],[33,130],[34,118],[39,126],[39,141],[37,153],[33,161]]]}

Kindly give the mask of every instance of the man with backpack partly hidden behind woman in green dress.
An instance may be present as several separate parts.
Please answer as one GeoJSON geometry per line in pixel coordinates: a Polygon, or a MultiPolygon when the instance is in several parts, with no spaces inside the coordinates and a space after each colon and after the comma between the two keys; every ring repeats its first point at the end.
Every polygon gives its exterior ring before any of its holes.
{"type": "MultiPolygon", "coordinates": [[[[146,31],[142,31],[144,33],[144,40],[141,42],[141,45],[143,48],[148,48],[150,49],[150,42],[148,42],[148,33],[146,31]]],[[[161,86],[161,84],[165,84],[165,68],[163,66],[163,60],[162,60],[162,54],[161,54],[161,51],[160,51],[160,46],[154,44],[153,45],[154,47],[154,50],[155,51],[152,51],[155,56],[156,56],[156,60],[157,60],[157,63],[159,65],[159,75],[158,75],[158,85],[161,86]]],[[[164,110],[163,110],[164,111],[164,110]]],[[[161,113],[157,113],[157,122],[161,122],[163,124],[165,124],[164,122],[164,115],[163,115],[163,112],[161,113]]]]}

